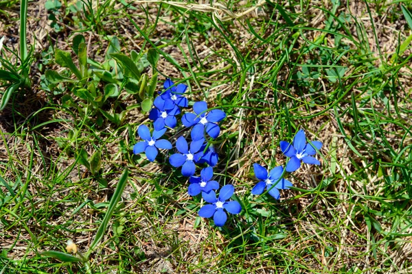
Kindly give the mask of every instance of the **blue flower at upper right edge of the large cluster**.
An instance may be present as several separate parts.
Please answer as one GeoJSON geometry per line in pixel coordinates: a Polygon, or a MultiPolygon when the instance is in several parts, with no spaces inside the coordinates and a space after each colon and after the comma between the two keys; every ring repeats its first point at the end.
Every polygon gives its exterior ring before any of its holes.
{"type": "Polygon", "coordinates": [[[203,138],[205,129],[211,138],[218,138],[220,128],[217,123],[225,119],[225,112],[222,112],[222,110],[211,110],[209,113],[206,113],[207,103],[205,101],[194,103],[193,110],[197,115],[186,113],[182,117],[182,123],[185,127],[192,127],[194,125],[192,132],[190,132],[192,140],[203,138]]]}

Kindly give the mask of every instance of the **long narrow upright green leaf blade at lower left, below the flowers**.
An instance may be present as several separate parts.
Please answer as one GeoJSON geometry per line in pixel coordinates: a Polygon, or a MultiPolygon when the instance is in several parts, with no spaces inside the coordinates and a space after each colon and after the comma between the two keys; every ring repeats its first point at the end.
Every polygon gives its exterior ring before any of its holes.
{"type": "Polygon", "coordinates": [[[108,221],[110,221],[111,216],[113,215],[113,212],[115,212],[115,209],[117,207],[117,203],[119,203],[120,198],[122,198],[122,193],[126,186],[127,179],[128,179],[128,169],[126,168],[124,169],[124,172],[122,176],[120,177],[119,182],[117,183],[116,190],[113,193],[113,196],[111,198],[110,204],[108,205],[106,214],[104,215],[103,221],[100,224],[98,232],[96,233],[96,236],[89,247],[89,251],[87,252],[87,256],[86,256],[87,258],[89,257],[89,254],[93,252],[93,250],[95,249],[96,245],[98,245],[100,240],[102,240],[106,232],[108,221]]]}

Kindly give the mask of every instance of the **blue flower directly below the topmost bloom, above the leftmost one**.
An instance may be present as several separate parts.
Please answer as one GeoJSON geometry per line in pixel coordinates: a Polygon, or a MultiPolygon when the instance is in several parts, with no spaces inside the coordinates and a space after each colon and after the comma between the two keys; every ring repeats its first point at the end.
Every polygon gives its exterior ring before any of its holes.
{"type": "Polygon", "coordinates": [[[165,125],[170,128],[176,127],[176,115],[180,114],[180,108],[177,105],[168,103],[161,98],[161,96],[156,97],[153,102],[156,108],[152,108],[149,113],[149,119],[155,121],[153,125],[156,130],[161,130],[165,125]]]}

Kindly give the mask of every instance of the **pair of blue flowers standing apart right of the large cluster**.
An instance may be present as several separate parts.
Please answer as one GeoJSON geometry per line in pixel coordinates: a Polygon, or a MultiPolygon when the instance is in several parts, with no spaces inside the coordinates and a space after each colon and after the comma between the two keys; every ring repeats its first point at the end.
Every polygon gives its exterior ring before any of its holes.
{"type": "MultiPolygon", "coordinates": [[[[280,141],[280,149],[289,157],[289,161],[286,164],[286,171],[297,171],[301,166],[301,162],[306,164],[321,164],[319,160],[312,157],[316,153],[316,150],[321,149],[322,143],[319,141],[306,142],[306,135],[303,129],[293,138],[293,144],[285,141],[280,141]]],[[[253,195],[261,195],[265,188],[268,190],[269,195],[275,199],[280,198],[279,189],[288,189],[293,186],[291,182],[282,177],[284,173],[283,166],[276,166],[269,173],[260,164],[253,164],[256,178],[260,179],[260,182],[252,188],[253,195]]]]}

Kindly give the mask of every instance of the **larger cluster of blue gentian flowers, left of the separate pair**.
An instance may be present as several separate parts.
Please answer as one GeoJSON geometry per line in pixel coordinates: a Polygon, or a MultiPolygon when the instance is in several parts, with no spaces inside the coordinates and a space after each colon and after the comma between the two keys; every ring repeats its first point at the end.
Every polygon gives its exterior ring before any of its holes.
{"type": "MultiPolygon", "coordinates": [[[[181,114],[181,108],[187,108],[187,98],[183,94],[187,90],[185,84],[175,85],[170,79],[166,79],[163,87],[164,92],[159,92],[153,102],[154,108],[149,112],[149,119],[153,121],[154,130],[150,130],[146,125],[140,125],[137,129],[139,137],[142,139],[133,147],[133,153],[146,153],[146,158],[153,162],[158,154],[158,149],[172,149],[172,144],[168,140],[160,139],[165,134],[167,128],[174,128],[177,125],[176,116],[181,114]]],[[[207,103],[199,101],[193,105],[194,113],[185,113],[182,116],[182,123],[185,127],[192,127],[190,132],[191,141],[187,142],[185,137],[180,136],[176,140],[177,153],[170,155],[169,162],[175,168],[181,167],[181,173],[185,177],[190,177],[190,186],[187,190],[190,196],[202,194],[207,201],[206,206],[199,210],[198,214],[204,218],[214,217],[215,225],[221,227],[227,221],[225,210],[231,214],[238,214],[242,207],[238,201],[229,201],[234,193],[234,187],[226,185],[220,188],[219,197],[216,198],[215,190],[218,190],[218,182],[212,180],[213,168],[218,163],[218,153],[213,145],[207,141],[210,138],[218,138],[220,127],[218,123],[225,119],[226,114],[222,110],[211,110],[207,112],[207,103]],[[201,170],[201,176],[196,177],[196,164],[208,166],[201,170]]]]}

